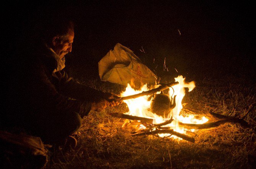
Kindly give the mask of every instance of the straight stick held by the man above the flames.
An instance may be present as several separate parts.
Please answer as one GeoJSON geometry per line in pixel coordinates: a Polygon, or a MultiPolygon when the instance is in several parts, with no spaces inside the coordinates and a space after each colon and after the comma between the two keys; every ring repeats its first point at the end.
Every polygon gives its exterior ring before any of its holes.
{"type": "Polygon", "coordinates": [[[138,97],[145,96],[145,95],[151,95],[153,93],[160,92],[162,90],[168,89],[169,87],[177,85],[178,83],[179,82],[173,82],[173,83],[161,85],[161,86],[157,87],[156,89],[151,89],[151,90],[148,90],[148,91],[144,91],[144,92],[138,93],[136,95],[121,97],[117,101],[123,101],[123,100],[128,100],[128,99],[131,99],[131,98],[138,98],[138,97]]]}

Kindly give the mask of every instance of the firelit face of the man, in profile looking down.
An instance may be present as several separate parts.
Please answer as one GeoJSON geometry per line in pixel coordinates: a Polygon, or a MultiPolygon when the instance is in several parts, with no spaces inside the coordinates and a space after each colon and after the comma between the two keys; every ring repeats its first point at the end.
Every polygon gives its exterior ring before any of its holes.
{"type": "Polygon", "coordinates": [[[66,40],[58,40],[57,37],[53,44],[53,51],[60,56],[60,59],[62,59],[68,52],[71,52],[74,35],[74,31],[70,30],[66,40]]]}

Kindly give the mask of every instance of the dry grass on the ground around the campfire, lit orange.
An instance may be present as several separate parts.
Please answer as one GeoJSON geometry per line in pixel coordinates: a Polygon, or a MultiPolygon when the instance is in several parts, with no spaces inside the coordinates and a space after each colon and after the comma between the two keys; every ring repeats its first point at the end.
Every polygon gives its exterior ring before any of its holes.
{"type": "MultiPolygon", "coordinates": [[[[169,78],[169,77],[165,77],[169,78]]],[[[164,78],[163,78],[164,79],[164,78]]],[[[120,93],[122,87],[89,80],[91,87],[120,93]],[[97,85],[98,86],[97,86],[97,85]]],[[[225,77],[204,79],[183,99],[182,113],[207,116],[208,112],[246,117],[250,127],[226,123],[196,131],[195,143],[157,136],[131,137],[122,129],[123,119],[108,116],[123,113],[124,105],[104,112],[91,112],[74,135],[78,146],[66,153],[52,153],[47,168],[254,168],[256,164],[256,92],[255,84],[246,79],[225,77]]]]}

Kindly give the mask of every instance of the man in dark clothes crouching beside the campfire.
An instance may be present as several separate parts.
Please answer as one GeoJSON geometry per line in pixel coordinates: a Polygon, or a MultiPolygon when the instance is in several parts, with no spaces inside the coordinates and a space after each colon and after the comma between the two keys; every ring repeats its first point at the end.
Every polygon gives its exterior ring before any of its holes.
{"type": "Polygon", "coordinates": [[[33,50],[22,72],[15,110],[7,114],[4,123],[54,144],[79,129],[90,111],[102,111],[119,102],[110,101],[115,97],[110,93],[79,84],[63,70],[75,37],[71,21],[54,19],[44,32],[44,43],[33,50]]]}

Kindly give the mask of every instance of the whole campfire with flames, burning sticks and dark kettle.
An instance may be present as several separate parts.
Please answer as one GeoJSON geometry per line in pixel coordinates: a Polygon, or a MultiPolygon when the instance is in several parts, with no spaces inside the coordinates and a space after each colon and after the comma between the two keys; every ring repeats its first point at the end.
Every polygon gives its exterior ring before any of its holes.
{"type": "Polygon", "coordinates": [[[140,90],[134,90],[130,84],[121,93],[129,108],[126,114],[112,113],[112,117],[126,119],[122,127],[133,129],[133,136],[158,135],[159,137],[173,137],[194,143],[195,129],[217,127],[225,122],[243,122],[243,119],[226,117],[210,112],[213,116],[224,120],[206,123],[205,116],[182,116],[181,101],[188,92],[195,87],[194,82],[185,82],[183,76],[175,78],[171,84],[159,84],[149,90],[143,85],[140,90]],[[163,91],[169,90],[168,94],[163,91]],[[221,117],[220,117],[221,116],[221,117]]]}

